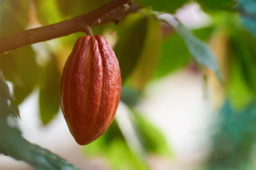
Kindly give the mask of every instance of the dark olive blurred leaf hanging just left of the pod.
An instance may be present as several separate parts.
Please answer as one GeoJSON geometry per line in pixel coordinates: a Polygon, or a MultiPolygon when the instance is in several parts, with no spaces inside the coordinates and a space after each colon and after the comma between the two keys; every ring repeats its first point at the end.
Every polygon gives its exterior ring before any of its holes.
{"type": "Polygon", "coordinates": [[[49,63],[42,68],[39,107],[40,117],[44,125],[47,125],[56,116],[60,107],[59,80],[57,65],[54,56],[49,63]]]}

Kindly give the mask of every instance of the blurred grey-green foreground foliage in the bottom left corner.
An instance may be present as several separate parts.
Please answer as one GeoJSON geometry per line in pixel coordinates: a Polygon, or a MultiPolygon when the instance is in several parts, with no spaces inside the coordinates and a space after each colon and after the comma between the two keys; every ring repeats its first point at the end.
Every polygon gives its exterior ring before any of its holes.
{"type": "Polygon", "coordinates": [[[17,160],[23,160],[36,170],[78,170],[77,167],[49,150],[31,144],[24,139],[17,128],[15,118],[12,119],[15,127],[8,124],[8,117],[17,115],[8,104],[10,98],[12,97],[9,87],[4,77],[0,75],[0,153],[5,156],[12,156],[17,160]]]}

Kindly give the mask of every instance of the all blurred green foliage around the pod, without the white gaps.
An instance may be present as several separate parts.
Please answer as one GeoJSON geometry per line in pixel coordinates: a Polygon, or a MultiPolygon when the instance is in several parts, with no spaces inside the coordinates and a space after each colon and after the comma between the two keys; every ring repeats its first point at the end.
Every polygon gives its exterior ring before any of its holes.
{"type": "MultiPolygon", "coordinates": [[[[110,0],[32,0],[35,14],[29,9],[29,0],[1,0],[0,37],[23,31],[38,20],[49,25],[87,13],[110,0]]],[[[189,30],[178,21],[169,23],[170,31],[163,36],[163,25],[152,15],[152,11],[175,12],[192,0],[136,0],[145,6],[140,12],[129,14],[118,25],[113,23],[93,27],[94,34],[116,32],[113,45],[122,76],[121,101],[133,113],[130,116],[134,129],[146,154],[172,156],[165,136],[150,121],[138,113],[135,106],[140,102],[146,86],[152,80],[164,78],[175,71],[186,68],[193,59],[221,77],[218,62],[208,42],[212,34],[221,29],[228,32],[227,48],[230,61],[229,75],[223,85],[227,102],[219,115],[221,131],[214,139],[215,145],[209,168],[246,169],[250,166],[249,155],[255,143],[255,95],[256,95],[256,1],[255,0],[197,0],[210,15],[213,23],[205,28],[189,30]],[[234,5],[236,4],[236,8],[234,5]],[[236,10],[237,12],[236,12],[236,10]],[[212,12],[214,11],[214,12],[212,12]],[[110,31],[109,31],[110,32],[110,31]],[[194,57],[194,58],[193,58],[194,57]],[[221,144],[220,144],[221,143],[221,144]]],[[[163,20],[162,20],[163,21],[163,20]]],[[[59,111],[59,79],[62,66],[77,38],[84,33],[70,34],[49,41],[47,50],[50,59],[41,65],[36,52],[28,45],[0,54],[0,70],[6,80],[12,82],[14,97],[11,98],[5,83],[0,82],[0,151],[15,159],[23,160],[38,170],[76,167],[21,137],[16,128],[8,125],[6,117],[16,116],[20,105],[38,87],[40,117],[43,125],[49,125],[59,111]],[[57,45],[56,45],[57,44],[57,45]],[[6,97],[3,100],[3,97],[6,97]],[[8,104],[10,100],[10,104],[8,104]]],[[[17,40],[18,42],[19,40],[17,40]]],[[[48,42],[46,42],[48,43],[48,42]]],[[[38,51],[36,51],[38,50],[38,51]]],[[[3,82],[3,80],[2,80],[3,82]]],[[[215,84],[214,84],[215,85],[215,84]]],[[[214,86],[213,85],[213,86],[214,86]]],[[[222,84],[221,84],[222,85],[222,84]]],[[[215,87],[216,88],[216,87],[215,87]]],[[[131,149],[116,120],[106,133],[95,142],[84,146],[89,157],[104,156],[114,170],[148,169],[143,155],[131,149]]],[[[218,169],[219,170],[219,169],[218,169]]],[[[222,170],[222,169],[221,169],[222,170]]]]}

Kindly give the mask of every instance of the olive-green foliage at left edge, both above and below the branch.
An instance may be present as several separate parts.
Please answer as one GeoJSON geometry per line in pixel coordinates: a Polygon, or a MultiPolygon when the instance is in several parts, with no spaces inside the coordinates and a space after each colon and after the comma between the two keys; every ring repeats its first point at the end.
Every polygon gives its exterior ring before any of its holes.
{"type": "MultiPolygon", "coordinates": [[[[2,1],[0,36],[17,33],[26,29],[29,19],[28,7],[28,0],[2,1]]],[[[13,82],[15,103],[20,104],[32,92],[38,77],[38,66],[35,62],[35,54],[31,46],[19,48],[7,54],[0,54],[0,69],[3,70],[6,79],[13,82]]]]}

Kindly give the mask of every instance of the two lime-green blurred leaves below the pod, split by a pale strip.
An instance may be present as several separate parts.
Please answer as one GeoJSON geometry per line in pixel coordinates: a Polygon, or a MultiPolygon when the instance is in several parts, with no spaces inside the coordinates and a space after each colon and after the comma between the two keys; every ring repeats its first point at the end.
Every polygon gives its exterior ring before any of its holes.
{"type": "MultiPolygon", "coordinates": [[[[163,134],[143,114],[137,113],[136,109],[132,109],[134,127],[138,136],[143,143],[144,150],[150,154],[158,156],[171,156],[172,152],[163,134]]],[[[125,138],[119,130],[116,120],[113,121],[108,130],[96,141],[84,146],[86,156],[97,157],[104,156],[111,164],[113,170],[142,170],[147,167],[146,162],[143,163],[142,157],[134,155],[134,152],[126,144],[125,138]],[[122,155],[122,157],[120,157],[122,155]]]]}

